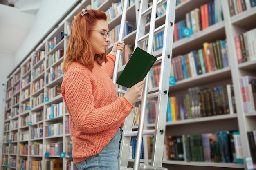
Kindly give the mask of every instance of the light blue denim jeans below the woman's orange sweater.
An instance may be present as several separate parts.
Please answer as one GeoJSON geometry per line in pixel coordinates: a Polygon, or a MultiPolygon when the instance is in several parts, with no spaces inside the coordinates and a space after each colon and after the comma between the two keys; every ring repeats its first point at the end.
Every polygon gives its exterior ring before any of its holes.
{"type": "Polygon", "coordinates": [[[122,129],[119,128],[111,141],[97,155],[76,163],[78,170],[119,170],[122,129]]]}

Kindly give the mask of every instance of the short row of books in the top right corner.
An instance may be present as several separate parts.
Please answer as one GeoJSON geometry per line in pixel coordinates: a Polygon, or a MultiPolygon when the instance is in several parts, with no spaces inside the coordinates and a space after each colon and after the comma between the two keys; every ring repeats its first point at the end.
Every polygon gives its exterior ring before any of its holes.
{"type": "Polygon", "coordinates": [[[229,0],[229,13],[234,16],[256,6],[256,0],[229,0]]]}

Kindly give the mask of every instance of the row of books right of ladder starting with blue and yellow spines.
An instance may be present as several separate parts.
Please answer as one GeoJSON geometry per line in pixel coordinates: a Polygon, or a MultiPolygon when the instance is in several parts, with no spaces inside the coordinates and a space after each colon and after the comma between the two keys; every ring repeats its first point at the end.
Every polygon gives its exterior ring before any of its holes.
{"type": "Polygon", "coordinates": [[[194,87],[189,93],[168,98],[167,121],[236,113],[233,85],[194,87]]]}

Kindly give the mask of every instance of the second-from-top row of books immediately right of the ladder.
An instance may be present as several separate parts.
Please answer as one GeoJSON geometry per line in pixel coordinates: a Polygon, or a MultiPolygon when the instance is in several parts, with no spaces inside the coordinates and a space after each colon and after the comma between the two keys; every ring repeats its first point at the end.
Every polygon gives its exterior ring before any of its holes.
{"type": "Polygon", "coordinates": [[[228,67],[226,44],[224,40],[205,42],[202,49],[173,57],[171,73],[175,76],[176,82],[228,67]]]}

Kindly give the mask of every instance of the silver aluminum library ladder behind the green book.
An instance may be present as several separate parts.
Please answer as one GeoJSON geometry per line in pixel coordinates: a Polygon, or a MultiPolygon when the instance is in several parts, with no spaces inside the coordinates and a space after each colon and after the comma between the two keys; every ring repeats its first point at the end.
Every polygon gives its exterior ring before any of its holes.
{"type": "MultiPolygon", "coordinates": [[[[139,6],[139,1],[136,1],[136,5],[139,6]]],[[[157,93],[151,93],[149,95],[158,96],[157,98],[157,113],[155,121],[154,130],[146,130],[144,124],[146,120],[146,102],[148,95],[148,82],[149,74],[145,77],[144,89],[141,95],[141,107],[140,107],[140,117],[139,125],[137,131],[132,131],[133,126],[133,116],[135,109],[132,110],[130,115],[126,118],[124,128],[123,128],[123,140],[121,142],[120,148],[120,168],[121,170],[167,170],[167,168],[162,167],[162,156],[164,150],[164,134],[165,134],[165,122],[166,122],[166,111],[167,111],[167,101],[168,101],[168,91],[169,91],[169,75],[171,70],[171,56],[172,56],[172,46],[173,46],[173,33],[174,33],[174,20],[175,20],[175,5],[176,0],[153,0],[153,5],[148,7],[148,0],[141,0],[139,8],[139,16],[137,22],[137,32],[135,40],[135,48],[138,46],[143,49],[143,42],[148,40],[147,52],[152,54],[153,51],[153,38],[154,35],[164,31],[164,40],[163,40],[163,49],[162,57],[159,57],[157,60],[161,60],[161,72],[160,72],[160,81],[159,81],[159,91],[157,93]],[[146,28],[146,17],[150,13],[157,13],[157,8],[166,4],[166,16],[165,24],[159,26],[155,29],[155,20],[156,15],[151,15],[150,18],[150,29],[149,33],[145,34],[146,28]],[[146,135],[154,136],[153,152],[151,165],[148,164],[148,152],[146,146],[146,135]],[[137,136],[136,150],[135,150],[135,159],[133,168],[128,168],[128,157],[130,150],[130,141],[131,137],[137,136]],[[141,144],[142,138],[144,138],[144,163],[140,162],[141,155],[141,144]]],[[[122,40],[124,22],[126,20],[126,10],[127,9],[127,0],[124,0],[123,5],[123,15],[121,20],[121,29],[119,33],[119,41],[122,40]]],[[[117,51],[117,56],[120,55],[120,51],[117,51]]],[[[156,61],[157,62],[157,61],[156,61]]],[[[119,57],[117,57],[114,68],[113,82],[116,82],[117,79],[117,70],[119,64],[119,57]]],[[[125,91],[117,88],[118,93],[125,93],[125,91]]]]}

